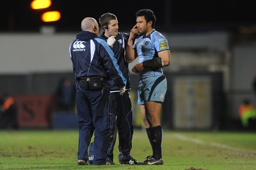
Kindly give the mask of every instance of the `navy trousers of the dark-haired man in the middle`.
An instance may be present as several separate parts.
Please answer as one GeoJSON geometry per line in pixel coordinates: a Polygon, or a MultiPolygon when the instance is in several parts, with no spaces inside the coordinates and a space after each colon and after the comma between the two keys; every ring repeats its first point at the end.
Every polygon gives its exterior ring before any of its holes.
{"type": "Polygon", "coordinates": [[[111,144],[108,148],[108,158],[113,161],[116,131],[118,131],[118,149],[120,152],[118,159],[125,159],[130,155],[133,135],[132,107],[129,91],[125,91],[122,96],[120,96],[119,93],[110,93],[109,129],[111,134],[111,144]]]}

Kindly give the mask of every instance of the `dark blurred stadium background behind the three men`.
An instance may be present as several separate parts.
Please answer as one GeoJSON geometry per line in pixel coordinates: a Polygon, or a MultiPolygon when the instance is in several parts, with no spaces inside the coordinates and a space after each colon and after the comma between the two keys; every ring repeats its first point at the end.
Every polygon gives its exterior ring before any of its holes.
{"type": "MultiPolygon", "coordinates": [[[[246,116],[244,124],[239,114],[245,100],[253,112],[256,105],[256,12],[247,0],[5,1],[0,6],[0,128],[77,128],[68,47],[81,31],[81,20],[111,12],[119,31],[129,33],[142,8],[154,11],[156,30],[166,36],[172,54],[164,68],[164,128],[254,128],[250,123],[256,118],[246,116]],[[37,9],[38,4],[46,7],[37,9]]],[[[131,82],[134,126],[140,128],[138,75],[132,72],[131,82]]]]}

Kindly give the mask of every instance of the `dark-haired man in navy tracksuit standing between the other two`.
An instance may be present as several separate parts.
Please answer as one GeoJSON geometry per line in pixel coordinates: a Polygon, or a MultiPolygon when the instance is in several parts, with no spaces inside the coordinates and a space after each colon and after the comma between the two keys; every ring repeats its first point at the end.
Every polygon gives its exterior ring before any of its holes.
{"type": "Polygon", "coordinates": [[[118,160],[120,164],[138,164],[138,161],[131,155],[132,149],[132,106],[129,89],[131,88],[129,77],[129,64],[125,61],[126,50],[132,50],[132,45],[128,45],[128,41],[135,38],[136,33],[127,34],[118,32],[118,19],[113,13],[104,13],[99,19],[100,26],[104,29],[102,35],[99,36],[105,40],[115,54],[117,63],[127,80],[124,95],[118,94],[118,86],[111,87],[109,96],[109,129],[111,133],[111,144],[108,150],[108,160],[113,161],[113,150],[116,142],[116,130],[118,130],[118,149],[120,151],[118,160]],[[129,49],[131,48],[131,49],[129,49]],[[112,135],[113,134],[113,135],[112,135]]]}

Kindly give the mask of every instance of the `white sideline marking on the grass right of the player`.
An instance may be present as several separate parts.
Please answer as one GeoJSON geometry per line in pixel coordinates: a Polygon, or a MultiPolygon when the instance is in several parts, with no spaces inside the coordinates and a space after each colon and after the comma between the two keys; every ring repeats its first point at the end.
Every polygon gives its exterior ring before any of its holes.
{"type": "Polygon", "coordinates": [[[207,143],[205,141],[202,141],[201,139],[195,139],[195,138],[191,138],[191,137],[186,137],[185,135],[181,135],[181,134],[173,134],[174,137],[182,140],[182,141],[189,141],[189,142],[193,142],[193,143],[197,143],[197,144],[209,144],[210,146],[215,146],[218,148],[224,148],[227,150],[232,150],[232,151],[240,151],[240,152],[247,152],[247,153],[253,153],[256,154],[256,151],[248,151],[248,150],[243,150],[243,149],[239,149],[239,148],[234,148],[232,146],[228,146],[225,144],[220,144],[220,143],[207,143]]]}

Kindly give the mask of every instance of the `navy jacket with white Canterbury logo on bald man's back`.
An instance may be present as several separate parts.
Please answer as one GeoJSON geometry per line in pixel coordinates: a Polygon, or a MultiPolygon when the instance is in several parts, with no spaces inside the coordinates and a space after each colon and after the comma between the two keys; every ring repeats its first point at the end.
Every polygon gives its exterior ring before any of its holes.
{"type": "Polygon", "coordinates": [[[94,33],[78,33],[76,40],[70,44],[69,53],[76,80],[80,77],[104,77],[108,82],[108,85],[104,86],[106,89],[110,89],[113,82],[118,88],[126,84],[113,51],[94,33]]]}

